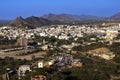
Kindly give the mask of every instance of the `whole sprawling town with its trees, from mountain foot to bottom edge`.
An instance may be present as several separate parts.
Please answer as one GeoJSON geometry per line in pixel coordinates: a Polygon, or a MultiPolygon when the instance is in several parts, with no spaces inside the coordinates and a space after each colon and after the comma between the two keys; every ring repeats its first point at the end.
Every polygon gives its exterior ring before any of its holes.
{"type": "Polygon", "coordinates": [[[119,43],[120,23],[50,25],[34,29],[27,26],[25,28],[1,26],[0,59],[3,62],[1,65],[7,63],[5,60],[11,65],[7,65],[4,71],[0,70],[0,78],[88,80],[85,77],[83,79],[82,76],[85,74],[82,75],[82,72],[83,70],[86,72],[88,70],[86,67],[90,67],[90,71],[95,72],[90,80],[120,79],[119,43]],[[104,73],[101,68],[105,71],[114,69],[104,73]],[[80,77],[76,74],[77,71],[81,74],[80,77]],[[95,77],[99,73],[101,75],[95,77]]]}

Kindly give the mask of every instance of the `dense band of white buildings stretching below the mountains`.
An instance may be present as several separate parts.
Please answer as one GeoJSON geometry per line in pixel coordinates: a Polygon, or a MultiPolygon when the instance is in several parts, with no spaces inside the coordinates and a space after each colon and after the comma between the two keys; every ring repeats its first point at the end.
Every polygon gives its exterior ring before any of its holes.
{"type": "Polygon", "coordinates": [[[88,25],[82,26],[70,26],[70,25],[51,25],[48,27],[40,27],[36,29],[20,29],[8,26],[0,28],[0,36],[8,39],[16,39],[25,35],[26,38],[35,38],[35,36],[54,36],[58,39],[68,40],[70,38],[84,37],[94,35],[107,40],[112,40],[117,36],[120,25],[114,25],[110,27],[88,27],[88,25]]]}

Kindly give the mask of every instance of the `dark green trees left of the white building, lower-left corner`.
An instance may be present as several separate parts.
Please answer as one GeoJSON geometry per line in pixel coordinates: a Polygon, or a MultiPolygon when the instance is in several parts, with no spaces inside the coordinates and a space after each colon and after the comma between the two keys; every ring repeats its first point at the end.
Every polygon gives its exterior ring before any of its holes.
{"type": "Polygon", "coordinates": [[[30,64],[30,61],[24,59],[14,59],[12,57],[5,57],[5,59],[0,59],[0,76],[8,73],[10,80],[17,80],[17,69],[20,65],[30,64]],[[8,70],[7,70],[8,69],[8,70]]]}

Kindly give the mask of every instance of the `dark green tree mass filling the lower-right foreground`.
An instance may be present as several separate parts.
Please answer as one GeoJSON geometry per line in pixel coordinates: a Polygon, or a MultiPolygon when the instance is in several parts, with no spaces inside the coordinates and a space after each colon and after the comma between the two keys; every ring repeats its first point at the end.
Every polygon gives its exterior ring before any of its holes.
{"type": "Polygon", "coordinates": [[[82,68],[73,67],[57,71],[52,74],[52,80],[110,80],[111,75],[120,75],[118,70],[120,70],[118,64],[89,62],[82,68]]]}

